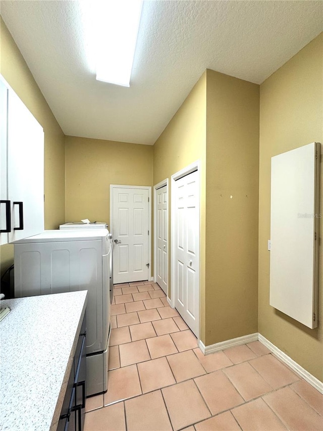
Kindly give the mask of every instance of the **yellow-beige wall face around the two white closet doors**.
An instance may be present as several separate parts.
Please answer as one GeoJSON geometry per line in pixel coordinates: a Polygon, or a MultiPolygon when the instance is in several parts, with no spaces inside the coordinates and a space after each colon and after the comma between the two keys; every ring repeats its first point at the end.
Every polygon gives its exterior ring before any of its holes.
{"type": "MultiPolygon", "coordinates": [[[[205,144],[206,144],[206,72],[159,136],[153,146],[153,184],[169,178],[171,193],[171,176],[189,164],[200,160],[200,292],[201,330],[204,333],[204,292],[205,292],[205,144]]],[[[171,196],[171,195],[169,195],[171,196]]],[[[171,202],[169,202],[169,244],[171,244],[171,202]]],[[[170,247],[169,247],[170,250],[170,247]]],[[[171,253],[169,253],[171,268],[171,253]]],[[[171,274],[169,270],[169,296],[171,274]]]]}

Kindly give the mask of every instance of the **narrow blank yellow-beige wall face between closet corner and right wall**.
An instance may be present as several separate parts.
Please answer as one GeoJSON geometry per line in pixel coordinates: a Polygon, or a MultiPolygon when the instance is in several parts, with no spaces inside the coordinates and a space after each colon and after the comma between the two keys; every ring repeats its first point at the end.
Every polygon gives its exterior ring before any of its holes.
{"type": "Polygon", "coordinates": [[[259,85],[207,70],[206,88],[205,342],[212,345],[257,332],[259,85]]]}

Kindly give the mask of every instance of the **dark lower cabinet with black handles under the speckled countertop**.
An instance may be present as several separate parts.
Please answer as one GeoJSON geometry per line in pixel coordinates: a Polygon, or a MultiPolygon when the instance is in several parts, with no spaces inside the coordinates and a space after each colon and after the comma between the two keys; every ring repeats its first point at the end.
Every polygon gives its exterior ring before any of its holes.
{"type": "Polygon", "coordinates": [[[86,318],[84,316],[57,431],[82,431],[86,397],[86,318]]]}

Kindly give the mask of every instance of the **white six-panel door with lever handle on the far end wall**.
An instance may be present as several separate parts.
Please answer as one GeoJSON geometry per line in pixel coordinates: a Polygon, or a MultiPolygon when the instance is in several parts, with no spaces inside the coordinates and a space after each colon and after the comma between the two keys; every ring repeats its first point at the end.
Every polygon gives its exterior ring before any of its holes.
{"type": "Polygon", "coordinates": [[[149,190],[112,186],[114,283],[147,280],[150,266],[149,190]]]}

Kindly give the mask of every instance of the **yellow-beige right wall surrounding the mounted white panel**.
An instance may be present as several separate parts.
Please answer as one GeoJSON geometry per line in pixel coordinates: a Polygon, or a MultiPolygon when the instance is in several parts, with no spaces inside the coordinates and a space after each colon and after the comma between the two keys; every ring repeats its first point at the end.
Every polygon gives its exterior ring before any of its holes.
{"type": "MultiPolygon", "coordinates": [[[[323,225],[319,234],[318,328],[309,329],[269,305],[271,157],[323,143],[323,33],[260,86],[259,332],[323,380],[323,225]]],[[[323,213],[321,146],[320,213],[323,213]]]]}

